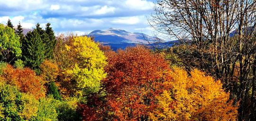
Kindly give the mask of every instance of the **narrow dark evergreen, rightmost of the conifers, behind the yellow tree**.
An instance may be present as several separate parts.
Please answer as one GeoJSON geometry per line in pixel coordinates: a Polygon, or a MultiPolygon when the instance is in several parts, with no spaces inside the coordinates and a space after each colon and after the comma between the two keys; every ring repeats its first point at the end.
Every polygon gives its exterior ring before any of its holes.
{"type": "Polygon", "coordinates": [[[46,44],[46,58],[47,59],[52,59],[53,58],[53,52],[56,44],[56,38],[54,31],[52,27],[50,27],[50,23],[46,24],[46,34],[48,35],[48,41],[45,43],[46,44]]]}

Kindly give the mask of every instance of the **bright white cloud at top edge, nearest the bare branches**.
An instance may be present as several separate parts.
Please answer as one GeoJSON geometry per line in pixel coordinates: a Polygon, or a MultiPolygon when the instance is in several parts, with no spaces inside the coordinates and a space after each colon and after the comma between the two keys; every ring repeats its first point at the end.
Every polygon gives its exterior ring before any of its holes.
{"type": "Polygon", "coordinates": [[[125,5],[130,9],[149,10],[153,9],[154,3],[146,0],[126,0],[125,5]]]}

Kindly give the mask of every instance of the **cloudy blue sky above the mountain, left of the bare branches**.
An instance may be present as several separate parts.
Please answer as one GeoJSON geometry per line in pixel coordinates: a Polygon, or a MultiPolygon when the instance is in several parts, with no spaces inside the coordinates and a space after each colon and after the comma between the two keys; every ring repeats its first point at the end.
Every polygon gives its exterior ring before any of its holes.
{"type": "Polygon", "coordinates": [[[152,35],[146,17],[155,0],[0,0],[0,23],[26,28],[50,22],[55,33],[88,34],[110,27],[152,35]]]}

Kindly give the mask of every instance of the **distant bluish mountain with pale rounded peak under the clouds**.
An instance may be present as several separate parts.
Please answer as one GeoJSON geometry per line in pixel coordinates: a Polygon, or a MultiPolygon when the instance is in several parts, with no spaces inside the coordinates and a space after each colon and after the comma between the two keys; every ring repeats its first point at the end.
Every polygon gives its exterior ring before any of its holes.
{"type": "MultiPolygon", "coordinates": [[[[137,44],[151,45],[158,44],[159,38],[143,33],[131,33],[122,29],[109,28],[107,30],[94,30],[88,34],[94,37],[94,41],[104,45],[110,45],[113,50],[125,49],[128,46],[137,44]]],[[[163,41],[163,40],[161,40],[163,41]]]]}

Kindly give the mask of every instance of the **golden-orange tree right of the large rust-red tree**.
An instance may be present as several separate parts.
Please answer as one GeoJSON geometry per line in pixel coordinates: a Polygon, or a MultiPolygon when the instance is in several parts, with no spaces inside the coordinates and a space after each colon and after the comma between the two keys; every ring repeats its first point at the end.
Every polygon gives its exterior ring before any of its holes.
{"type": "Polygon", "coordinates": [[[197,69],[191,76],[174,68],[166,75],[166,90],[157,96],[159,107],[151,118],[155,121],[234,121],[237,106],[229,101],[229,93],[221,82],[197,69]]]}

